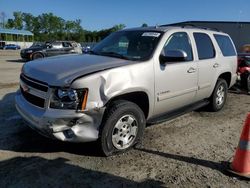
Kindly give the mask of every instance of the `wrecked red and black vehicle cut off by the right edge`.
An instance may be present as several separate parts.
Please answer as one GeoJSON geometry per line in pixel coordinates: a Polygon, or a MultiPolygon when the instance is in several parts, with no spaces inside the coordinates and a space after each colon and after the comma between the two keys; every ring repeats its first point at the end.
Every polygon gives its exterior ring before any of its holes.
{"type": "Polygon", "coordinates": [[[250,94],[250,53],[238,54],[238,74],[241,86],[250,94]]]}

